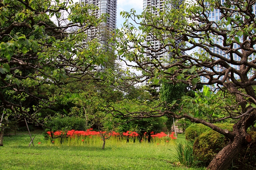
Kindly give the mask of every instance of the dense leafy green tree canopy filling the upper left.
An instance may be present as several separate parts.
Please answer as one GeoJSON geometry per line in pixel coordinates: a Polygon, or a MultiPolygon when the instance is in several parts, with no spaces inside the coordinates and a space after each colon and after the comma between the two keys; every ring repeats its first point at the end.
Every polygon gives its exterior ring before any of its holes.
{"type": "Polygon", "coordinates": [[[3,0],[0,8],[0,107],[34,119],[33,106],[48,102],[36,90],[40,85],[100,79],[93,70],[107,60],[100,41],[83,43],[86,30],[105,19],[96,16],[96,7],[72,0],[3,0]]]}

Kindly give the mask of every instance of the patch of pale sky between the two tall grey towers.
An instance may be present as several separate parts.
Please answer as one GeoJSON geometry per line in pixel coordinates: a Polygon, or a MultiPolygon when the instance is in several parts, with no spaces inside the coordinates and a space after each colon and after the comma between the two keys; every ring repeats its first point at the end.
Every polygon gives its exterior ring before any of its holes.
{"type": "Polygon", "coordinates": [[[125,21],[120,16],[120,12],[130,12],[132,8],[136,10],[136,14],[141,14],[143,11],[143,0],[117,0],[116,28],[121,28],[121,25],[125,21]]]}

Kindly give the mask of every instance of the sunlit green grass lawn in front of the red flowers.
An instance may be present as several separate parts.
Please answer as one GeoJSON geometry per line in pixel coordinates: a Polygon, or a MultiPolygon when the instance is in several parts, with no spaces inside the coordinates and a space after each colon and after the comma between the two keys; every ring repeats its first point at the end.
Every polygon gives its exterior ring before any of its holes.
{"type": "MultiPolygon", "coordinates": [[[[101,146],[48,146],[42,134],[28,147],[28,134],[4,137],[0,147],[1,170],[183,170],[174,154],[175,144],[118,144],[101,146]],[[38,142],[41,142],[38,144],[38,142]],[[169,150],[170,149],[170,150],[169,150]]],[[[184,141],[179,136],[177,142],[184,141]]]]}

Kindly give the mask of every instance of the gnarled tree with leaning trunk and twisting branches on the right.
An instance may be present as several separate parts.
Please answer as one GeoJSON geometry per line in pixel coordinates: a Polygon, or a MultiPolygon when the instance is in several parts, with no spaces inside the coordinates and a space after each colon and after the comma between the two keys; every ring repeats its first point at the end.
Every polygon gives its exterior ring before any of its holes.
{"type": "Polygon", "coordinates": [[[120,59],[136,63],[133,67],[141,70],[148,81],[181,82],[192,88],[196,84],[214,85],[215,92],[222,91],[222,95],[210,99],[215,94],[205,87],[204,92],[198,92],[195,98],[188,100],[184,97],[179,111],[172,110],[177,105],[174,102],[165,111],[141,112],[134,117],[168,114],[216,130],[228,137],[230,142],[216,155],[208,169],[227,169],[234,156],[248,143],[247,129],[256,121],[256,95],[253,89],[256,85],[256,1],[166,3],[171,4],[172,8],[153,8],[157,12],[145,10],[142,14],[136,14],[134,10],[121,12],[126,22],[118,30],[120,59]],[[158,40],[158,47],[152,45],[151,40],[158,40]],[[172,57],[159,59],[158,56],[165,52],[172,57]],[[234,103],[228,99],[230,96],[235,98],[234,103]],[[190,109],[196,108],[196,111],[187,112],[186,104],[190,105],[190,109]],[[212,113],[204,110],[209,106],[212,113]],[[213,108],[218,108],[219,112],[213,108]],[[232,132],[212,124],[230,119],[236,120],[232,132]]]}

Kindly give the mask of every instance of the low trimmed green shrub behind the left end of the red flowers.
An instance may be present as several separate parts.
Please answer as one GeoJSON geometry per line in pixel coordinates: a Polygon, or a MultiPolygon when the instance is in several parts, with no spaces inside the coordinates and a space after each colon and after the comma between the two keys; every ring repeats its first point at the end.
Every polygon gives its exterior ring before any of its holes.
{"type": "MultiPolygon", "coordinates": [[[[78,117],[54,117],[46,123],[52,131],[57,130],[86,130],[86,120],[78,117]]],[[[48,131],[49,129],[46,129],[48,131]]]]}

